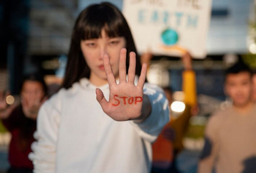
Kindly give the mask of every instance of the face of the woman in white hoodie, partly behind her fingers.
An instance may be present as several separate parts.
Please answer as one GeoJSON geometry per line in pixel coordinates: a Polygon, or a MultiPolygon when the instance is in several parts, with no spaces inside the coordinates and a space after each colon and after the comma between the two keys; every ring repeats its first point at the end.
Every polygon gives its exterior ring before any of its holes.
{"type": "Polygon", "coordinates": [[[101,37],[80,42],[83,57],[91,70],[89,80],[96,86],[107,83],[103,66],[103,55],[108,54],[114,76],[118,78],[120,50],[125,48],[124,37],[110,38],[102,29],[101,37]]]}

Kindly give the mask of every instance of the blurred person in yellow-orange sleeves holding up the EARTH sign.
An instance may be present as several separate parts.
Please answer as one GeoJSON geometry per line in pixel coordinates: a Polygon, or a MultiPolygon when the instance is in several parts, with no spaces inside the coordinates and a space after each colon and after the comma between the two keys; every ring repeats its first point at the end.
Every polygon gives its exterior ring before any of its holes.
{"type": "MultiPolygon", "coordinates": [[[[184,71],[182,73],[182,91],[184,92],[185,110],[177,117],[172,116],[170,111],[170,121],[167,123],[158,139],[153,143],[153,166],[154,172],[180,172],[176,165],[178,154],[183,150],[183,139],[192,115],[197,114],[197,92],[196,74],[192,68],[192,58],[188,51],[179,48],[182,53],[182,63],[184,71]]],[[[146,52],[141,55],[141,62],[150,66],[153,55],[146,52]]],[[[170,87],[163,88],[170,105],[173,103],[173,91],[170,87]]]]}

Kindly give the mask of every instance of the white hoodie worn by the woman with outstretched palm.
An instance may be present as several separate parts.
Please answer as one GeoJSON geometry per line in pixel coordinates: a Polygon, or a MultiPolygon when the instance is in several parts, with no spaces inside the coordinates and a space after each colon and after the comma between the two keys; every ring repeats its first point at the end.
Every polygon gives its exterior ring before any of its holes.
{"type": "MultiPolygon", "coordinates": [[[[37,139],[32,144],[34,172],[149,172],[151,143],[169,121],[162,89],[145,83],[152,104],[141,123],[118,122],[106,115],[96,100],[96,86],[86,78],[61,89],[40,108],[37,139]]],[[[109,98],[109,85],[100,87],[109,98]]]]}

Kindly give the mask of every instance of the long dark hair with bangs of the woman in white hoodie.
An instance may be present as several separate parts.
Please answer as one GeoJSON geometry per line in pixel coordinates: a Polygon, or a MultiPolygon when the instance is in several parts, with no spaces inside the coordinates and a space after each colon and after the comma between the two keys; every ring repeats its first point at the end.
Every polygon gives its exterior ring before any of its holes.
{"type": "MultiPolygon", "coordinates": [[[[124,37],[126,40],[126,71],[129,68],[129,53],[136,53],[136,75],[140,75],[141,63],[131,30],[117,7],[110,3],[101,3],[88,6],[75,21],[71,46],[68,54],[68,62],[62,88],[70,88],[79,79],[90,77],[90,68],[82,55],[81,40],[101,37],[104,29],[109,37],[124,37]]],[[[127,73],[127,72],[126,72],[127,73]]]]}

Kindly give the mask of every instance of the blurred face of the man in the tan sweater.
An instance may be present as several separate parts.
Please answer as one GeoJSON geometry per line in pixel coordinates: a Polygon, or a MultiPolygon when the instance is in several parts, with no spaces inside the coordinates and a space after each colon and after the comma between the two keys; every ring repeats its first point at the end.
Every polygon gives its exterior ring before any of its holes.
{"type": "Polygon", "coordinates": [[[252,94],[250,73],[228,74],[226,76],[225,91],[235,106],[244,106],[249,103],[252,94]]]}

